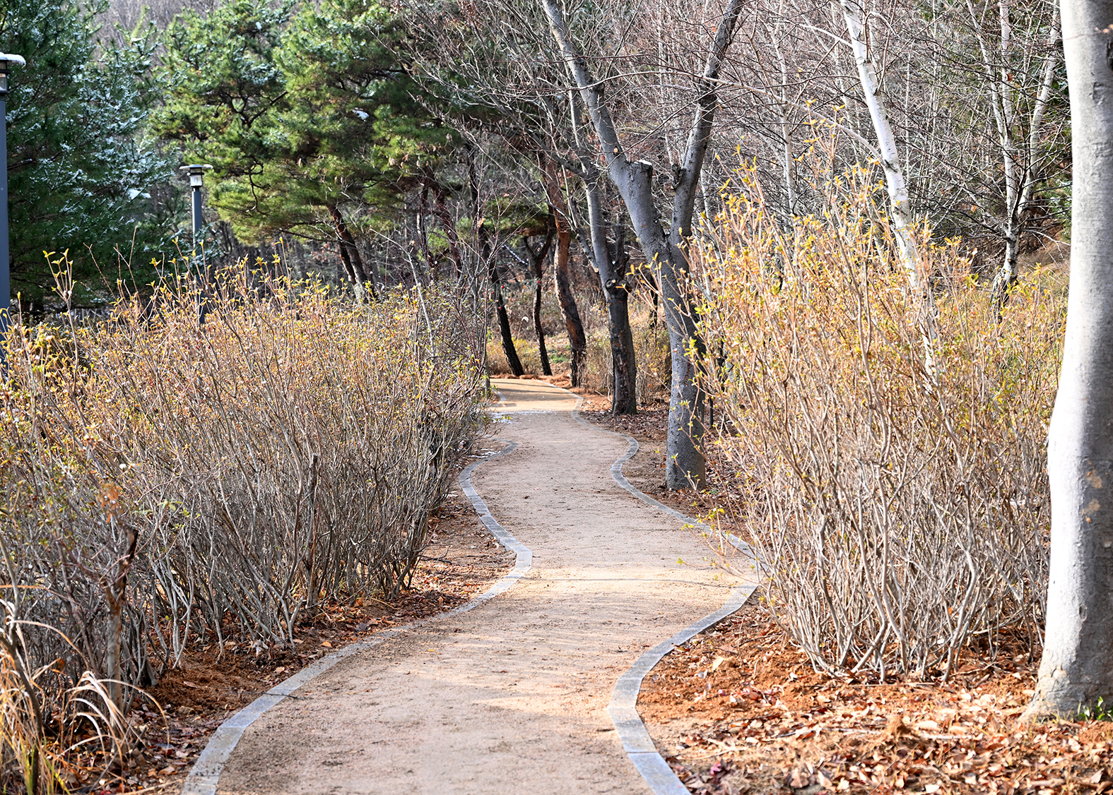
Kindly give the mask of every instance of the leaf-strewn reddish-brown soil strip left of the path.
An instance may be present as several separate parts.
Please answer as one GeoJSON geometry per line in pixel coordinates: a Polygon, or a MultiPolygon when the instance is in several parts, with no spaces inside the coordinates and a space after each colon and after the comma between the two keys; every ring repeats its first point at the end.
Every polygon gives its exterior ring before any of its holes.
{"type": "Polygon", "coordinates": [[[178,792],[209,735],[262,693],[331,650],[466,602],[513,564],[513,554],[492,539],[459,494],[431,519],[431,527],[430,545],[412,587],[396,600],[387,604],[364,597],[352,605],[326,604],[316,616],[297,625],[293,648],[256,653],[246,644],[229,640],[224,648],[214,643],[187,652],[180,666],[168,670],[148,690],[157,706],[148,703],[132,712],[141,744],[128,769],[104,778],[96,792],[146,787],[178,792]]]}

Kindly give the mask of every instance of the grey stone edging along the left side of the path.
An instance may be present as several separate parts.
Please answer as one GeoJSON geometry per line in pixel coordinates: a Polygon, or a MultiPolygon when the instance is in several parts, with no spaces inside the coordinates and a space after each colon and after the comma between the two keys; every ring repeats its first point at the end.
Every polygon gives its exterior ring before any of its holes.
{"type": "Polygon", "coordinates": [[[194,763],[193,769],[186,777],[181,795],[216,795],[216,787],[220,781],[220,773],[224,771],[224,766],[228,763],[228,759],[232,757],[232,752],[236,749],[236,745],[239,743],[240,737],[244,736],[244,732],[247,727],[255,723],[267,709],[280,703],[283,698],[293,694],[297,688],[324,674],[342,659],[346,659],[354,654],[378,646],[380,644],[390,640],[393,637],[397,637],[398,635],[402,635],[411,629],[425,626],[429,622],[441,620],[447,618],[449,616],[455,616],[461,613],[473,610],[484,602],[487,602],[509,589],[514,585],[514,583],[521,579],[526,572],[530,570],[530,567],[533,565],[533,553],[530,551],[524,544],[510,535],[502,525],[494,520],[494,517],[491,516],[491,511],[487,510],[486,504],[483,501],[482,497],[476,494],[471,480],[472,473],[475,471],[477,466],[494,460],[495,458],[500,458],[508,453],[513,451],[516,447],[518,443],[511,441],[499,453],[495,453],[492,456],[485,456],[477,461],[472,461],[464,467],[464,470],[460,474],[460,486],[463,489],[464,495],[471,501],[475,513],[480,515],[480,519],[492,533],[492,535],[499,539],[500,544],[516,554],[518,557],[514,562],[514,568],[508,572],[490,588],[460,607],[454,607],[451,610],[440,613],[435,616],[430,616],[429,618],[424,618],[420,622],[412,622],[401,627],[392,627],[391,629],[375,633],[375,635],[367,640],[345,646],[327,657],[322,657],[321,659],[311,663],[289,678],[284,679],[279,684],[272,687],[264,695],[256,698],[217,727],[216,732],[213,733],[213,736],[209,737],[209,742],[205,746],[205,751],[203,751],[200,756],[197,757],[197,762],[194,763]]]}

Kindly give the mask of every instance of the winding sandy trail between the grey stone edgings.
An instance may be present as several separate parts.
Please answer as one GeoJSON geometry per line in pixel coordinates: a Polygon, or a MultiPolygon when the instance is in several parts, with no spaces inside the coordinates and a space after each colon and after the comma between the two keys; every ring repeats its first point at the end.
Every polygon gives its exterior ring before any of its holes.
{"type": "Polygon", "coordinates": [[[671,518],[611,479],[627,444],[575,399],[496,380],[492,449],[472,477],[533,568],[471,613],[353,655],[256,721],[220,777],[233,793],[647,793],[607,714],[641,652],[737,584],[671,518]],[[678,558],[684,565],[678,564],[678,558]]]}

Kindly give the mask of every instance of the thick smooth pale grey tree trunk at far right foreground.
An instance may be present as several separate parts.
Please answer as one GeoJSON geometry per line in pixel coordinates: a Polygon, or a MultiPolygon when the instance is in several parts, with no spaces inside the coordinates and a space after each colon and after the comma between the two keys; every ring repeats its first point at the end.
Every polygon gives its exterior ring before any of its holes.
{"type": "Polygon", "coordinates": [[[1113,1],[1064,0],[1074,190],[1071,292],[1047,434],[1046,633],[1027,716],[1113,695],[1113,1]]]}

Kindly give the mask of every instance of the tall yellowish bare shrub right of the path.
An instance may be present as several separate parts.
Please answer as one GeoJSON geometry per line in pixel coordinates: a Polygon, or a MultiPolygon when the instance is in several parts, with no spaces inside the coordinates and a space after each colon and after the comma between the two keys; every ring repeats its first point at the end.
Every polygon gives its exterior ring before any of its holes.
{"type": "Polygon", "coordinates": [[[745,172],[740,187],[693,270],[774,613],[818,668],[881,678],[946,677],[965,644],[992,653],[1006,630],[1037,644],[1061,297],[1030,284],[997,324],[957,242],[925,235],[934,376],[867,172],[790,222],[745,172]]]}

